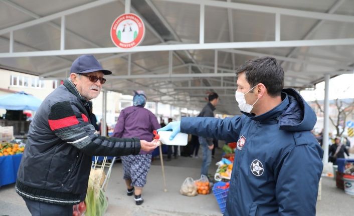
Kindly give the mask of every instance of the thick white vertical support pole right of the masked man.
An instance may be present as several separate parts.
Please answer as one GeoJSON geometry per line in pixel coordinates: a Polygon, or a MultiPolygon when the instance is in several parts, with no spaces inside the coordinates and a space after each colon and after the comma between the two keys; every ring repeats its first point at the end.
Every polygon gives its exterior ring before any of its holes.
{"type": "Polygon", "coordinates": [[[324,115],[323,115],[323,134],[322,134],[322,142],[323,142],[323,164],[328,163],[328,148],[329,148],[329,137],[328,137],[328,124],[329,124],[329,74],[324,75],[324,115]]]}

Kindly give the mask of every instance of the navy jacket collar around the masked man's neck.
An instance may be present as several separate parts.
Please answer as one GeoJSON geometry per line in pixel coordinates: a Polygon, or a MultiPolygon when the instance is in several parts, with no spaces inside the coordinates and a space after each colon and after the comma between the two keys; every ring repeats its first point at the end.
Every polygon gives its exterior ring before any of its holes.
{"type": "Polygon", "coordinates": [[[276,107],[269,110],[268,112],[263,113],[262,115],[256,116],[255,114],[249,114],[242,111],[241,112],[254,121],[267,122],[267,121],[277,120],[281,116],[281,114],[286,110],[286,108],[289,106],[288,95],[285,92],[281,92],[281,99],[282,101],[280,104],[278,104],[276,107]]]}

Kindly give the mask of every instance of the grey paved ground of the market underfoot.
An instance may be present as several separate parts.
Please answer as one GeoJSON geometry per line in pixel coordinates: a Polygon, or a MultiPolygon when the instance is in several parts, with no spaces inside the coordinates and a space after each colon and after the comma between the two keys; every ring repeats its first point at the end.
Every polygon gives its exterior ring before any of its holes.
{"type": "MultiPolygon", "coordinates": [[[[217,158],[220,156],[217,152],[217,158]]],[[[216,159],[209,172],[216,170],[216,159]]],[[[159,159],[152,162],[148,181],[143,191],[145,199],[141,206],[136,206],[133,197],[125,195],[125,184],[122,179],[122,165],[116,163],[110,177],[106,195],[109,206],[106,216],[199,216],[222,215],[213,194],[195,197],[183,196],[179,193],[182,182],[186,177],[198,178],[202,159],[179,157],[165,161],[167,192],[163,192],[163,181],[159,159]]],[[[345,194],[335,187],[332,178],[322,178],[322,200],[317,202],[319,216],[352,216],[354,215],[354,197],[345,194]]],[[[0,215],[26,216],[30,215],[25,202],[15,192],[15,185],[0,188],[0,215]]]]}

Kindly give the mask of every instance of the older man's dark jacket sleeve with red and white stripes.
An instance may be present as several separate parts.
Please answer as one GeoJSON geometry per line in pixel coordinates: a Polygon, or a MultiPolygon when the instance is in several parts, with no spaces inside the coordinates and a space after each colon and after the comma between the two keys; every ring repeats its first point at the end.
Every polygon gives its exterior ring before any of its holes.
{"type": "Polygon", "coordinates": [[[123,156],[138,154],[138,138],[103,137],[95,134],[88,116],[74,102],[63,101],[50,108],[50,129],[63,141],[77,147],[87,155],[123,156]]]}

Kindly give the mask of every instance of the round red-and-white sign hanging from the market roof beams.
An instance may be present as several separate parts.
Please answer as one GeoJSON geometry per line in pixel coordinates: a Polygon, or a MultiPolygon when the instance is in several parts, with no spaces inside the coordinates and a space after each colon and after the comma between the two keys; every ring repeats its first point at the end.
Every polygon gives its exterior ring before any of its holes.
{"type": "Polygon", "coordinates": [[[140,44],[145,34],[142,20],[135,14],[123,14],[112,24],[111,39],[115,46],[132,48],[140,44]]]}

